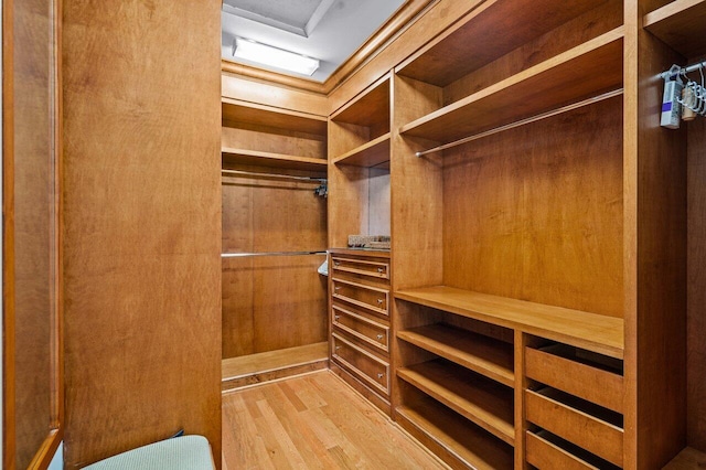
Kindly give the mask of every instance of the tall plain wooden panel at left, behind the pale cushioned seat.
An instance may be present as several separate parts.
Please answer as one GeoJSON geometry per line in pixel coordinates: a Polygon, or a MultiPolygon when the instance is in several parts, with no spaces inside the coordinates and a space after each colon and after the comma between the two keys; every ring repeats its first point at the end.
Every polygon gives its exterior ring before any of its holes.
{"type": "Polygon", "coordinates": [[[67,468],[182,428],[221,466],[220,8],[64,1],[67,468]]]}

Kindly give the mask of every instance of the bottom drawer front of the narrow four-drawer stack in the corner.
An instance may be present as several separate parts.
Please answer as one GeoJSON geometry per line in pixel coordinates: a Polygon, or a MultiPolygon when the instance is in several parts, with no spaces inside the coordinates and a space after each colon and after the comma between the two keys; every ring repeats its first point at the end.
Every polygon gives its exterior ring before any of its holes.
{"type": "Polygon", "coordinates": [[[335,333],[332,334],[332,339],[331,355],[333,360],[371,385],[372,388],[387,396],[389,394],[389,364],[335,333]]]}

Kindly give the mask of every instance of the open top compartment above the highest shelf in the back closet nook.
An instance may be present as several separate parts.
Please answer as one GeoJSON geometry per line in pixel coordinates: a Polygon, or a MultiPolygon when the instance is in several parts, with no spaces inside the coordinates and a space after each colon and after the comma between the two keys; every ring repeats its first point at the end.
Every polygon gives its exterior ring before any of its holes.
{"type": "Polygon", "coordinates": [[[328,119],[307,113],[257,105],[239,99],[221,98],[223,126],[237,127],[238,122],[313,133],[325,137],[328,119]]]}

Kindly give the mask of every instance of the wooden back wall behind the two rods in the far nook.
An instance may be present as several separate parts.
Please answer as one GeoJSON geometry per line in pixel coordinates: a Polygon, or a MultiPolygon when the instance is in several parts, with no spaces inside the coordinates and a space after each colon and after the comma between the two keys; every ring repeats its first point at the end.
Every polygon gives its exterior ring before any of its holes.
{"type": "MultiPolygon", "coordinates": [[[[317,185],[224,175],[224,252],[324,250],[327,200],[313,194],[317,185]]],[[[223,357],[325,341],[325,279],[317,273],[324,259],[323,255],[224,259],[223,357]]]]}

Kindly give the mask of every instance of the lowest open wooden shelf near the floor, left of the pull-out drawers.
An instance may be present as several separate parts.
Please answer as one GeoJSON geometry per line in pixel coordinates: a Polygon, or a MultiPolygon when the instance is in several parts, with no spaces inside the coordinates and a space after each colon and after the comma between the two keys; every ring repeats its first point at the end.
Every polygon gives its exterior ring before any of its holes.
{"type": "Polygon", "coordinates": [[[512,447],[478,429],[431,398],[397,407],[396,414],[397,421],[413,436],[448,452],[468,468],[513,468],[512,447]]]}

